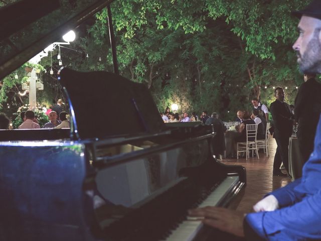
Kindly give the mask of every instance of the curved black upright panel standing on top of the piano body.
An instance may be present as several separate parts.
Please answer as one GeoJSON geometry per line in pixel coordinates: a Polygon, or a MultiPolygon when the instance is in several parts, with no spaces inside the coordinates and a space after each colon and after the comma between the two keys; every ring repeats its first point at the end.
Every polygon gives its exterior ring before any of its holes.
{"type": "Polygon", "coordinates": [[[58,74],[73,117],[74,139],[166,130],[145,85],[104,71],[85,73],[62,68],[58,74]]]}

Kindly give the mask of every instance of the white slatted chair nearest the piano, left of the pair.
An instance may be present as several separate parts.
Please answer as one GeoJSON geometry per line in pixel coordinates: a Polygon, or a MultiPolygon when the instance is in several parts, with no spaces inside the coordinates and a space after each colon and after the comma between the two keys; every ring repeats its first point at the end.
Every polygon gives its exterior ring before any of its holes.
{"type": "Polygon", "coordinates": [[[259,153],[258,153],[257,145],[256,145],[256,134],[257,134],[257,125],[256,124],[246,125],[246,142],[238,142],[236,144],[237,159],[239,159],[239,153],[245,152],[246,153],[246,160],[247,160],[249,157],[250,150],[252,150],[252,156],[253,156],[253,151],[255,150],[257,159],[259,159],[259,153]]]}

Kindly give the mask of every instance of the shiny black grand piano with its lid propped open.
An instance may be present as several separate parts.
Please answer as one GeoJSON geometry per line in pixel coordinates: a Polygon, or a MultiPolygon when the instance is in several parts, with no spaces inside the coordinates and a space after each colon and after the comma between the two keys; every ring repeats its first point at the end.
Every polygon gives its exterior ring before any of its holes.
{"type": "MultiPolygon", "coordinates": [[[[0,78],[111,1],[12,2],[0,9],[0,78]]],[[[146,86],[115,73],[57,76],[70,129],[0,131],[0,240],[237,240],[187,215],[235,208],[245,187],[244,167],[213,156],[212,127],[164,124],[146,86]]]]}

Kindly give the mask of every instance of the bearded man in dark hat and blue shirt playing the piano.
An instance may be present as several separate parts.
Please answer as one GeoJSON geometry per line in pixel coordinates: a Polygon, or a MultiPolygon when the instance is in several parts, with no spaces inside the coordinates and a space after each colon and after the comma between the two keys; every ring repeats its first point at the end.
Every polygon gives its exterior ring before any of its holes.
{"type": "MultiPolygon", "coordinates": [[[[294,15],[300,17],[300,35],[293,45],[303,73],[321,73],[321,4],[314,0],[294,15]]],[[[205,224],[246,240],[321,239],[321,119],[314,150],[304,164],[302,178],[277,189],[254,205],[257,213],[243,214],[220,207],[191,210],[205,224]]]]}

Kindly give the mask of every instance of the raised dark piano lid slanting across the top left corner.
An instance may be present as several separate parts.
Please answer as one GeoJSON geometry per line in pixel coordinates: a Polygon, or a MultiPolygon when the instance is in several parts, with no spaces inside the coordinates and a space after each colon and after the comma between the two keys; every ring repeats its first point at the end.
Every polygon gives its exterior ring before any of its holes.
{"type": "Polygon", "coordinates": [[[59,40],[70,29],[77,28],[112,0],[9,2],[12,4],[0,4],[0,79],[59,40]]]}

